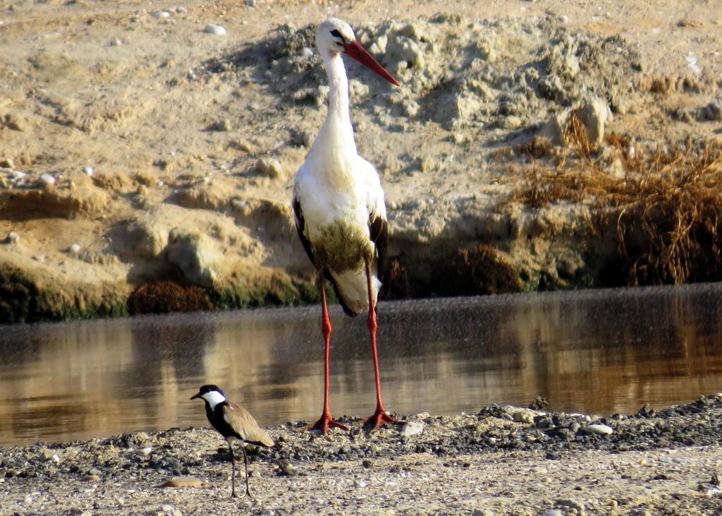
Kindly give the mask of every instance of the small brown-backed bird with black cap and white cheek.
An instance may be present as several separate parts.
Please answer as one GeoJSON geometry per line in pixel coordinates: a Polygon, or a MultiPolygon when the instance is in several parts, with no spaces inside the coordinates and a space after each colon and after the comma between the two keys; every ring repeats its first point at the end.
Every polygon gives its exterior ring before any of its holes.
{"type": "Polygon", "coordinates": [[[271,447],[275,443],[266,434],[266,431],[258,426],[251,413],[240,405],[230,403],[226,400],[225,394],[216,385],[204,385],[191,400],[200,397],[206,403],[206,417],[214,429],[218,431],[228,442],[230,450],[230,461],[232,464],[231,494],[235,495],[235,456],[233,455],[232,442],[240,442],[243,448],[243,461],[245,463],[245,495],[251,496],[248,489],[248,455],[245,452],[245,443],[256,446],[271,447]]]}

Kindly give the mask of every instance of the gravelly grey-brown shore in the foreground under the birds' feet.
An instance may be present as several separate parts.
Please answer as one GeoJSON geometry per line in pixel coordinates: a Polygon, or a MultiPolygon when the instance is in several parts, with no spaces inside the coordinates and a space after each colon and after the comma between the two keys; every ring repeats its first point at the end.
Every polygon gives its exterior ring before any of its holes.
{"type": "Polygon", "coordinates": [[[0,448],[0,515],[722,514],[722,394],[609,418],[533,405],[271,428],[245,499],[212,429],[0,448]]]}

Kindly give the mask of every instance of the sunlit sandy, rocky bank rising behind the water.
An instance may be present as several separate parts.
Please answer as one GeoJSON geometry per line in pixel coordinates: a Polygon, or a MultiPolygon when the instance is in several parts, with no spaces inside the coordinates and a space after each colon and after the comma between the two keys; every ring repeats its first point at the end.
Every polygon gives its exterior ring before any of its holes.
{"type": "Polygon", "coordinates": [[[402,82],[349,65],[357,145],[412,280],[439,246],[489,242],[527,288],[593,272],[585,208],[497,208],[523,163],[493,152],[565,108],[601,98],[604,130],[640,151],[719,138],[713,1],[4,0],[0,283],[20,285],[4,321],[123,313],[169,275],[230,304],[277,284],[303,297],[289,199],[326,112],[308,27],[329,15],[402,82]]]}

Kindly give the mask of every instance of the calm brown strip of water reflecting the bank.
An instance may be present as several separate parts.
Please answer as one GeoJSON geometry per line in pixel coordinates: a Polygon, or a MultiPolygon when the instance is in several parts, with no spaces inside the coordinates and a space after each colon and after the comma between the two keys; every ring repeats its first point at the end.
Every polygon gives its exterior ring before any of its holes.
{"type": "MultiPolygon", "coordinates": [[[[630,413],[722,390],[722,287],[435,299],[379,306],[384,401],[399,413],[526,405],[630,413]],[[387,401],[388,398],[388,401],[387,401]]],[[[205,426],[217,383],[263,425],[321,409],[317,307],[4,327],[0,445],[205,426]]],[[[331,409],[368,416],[365,319],[332,310],[331,409]]]]}

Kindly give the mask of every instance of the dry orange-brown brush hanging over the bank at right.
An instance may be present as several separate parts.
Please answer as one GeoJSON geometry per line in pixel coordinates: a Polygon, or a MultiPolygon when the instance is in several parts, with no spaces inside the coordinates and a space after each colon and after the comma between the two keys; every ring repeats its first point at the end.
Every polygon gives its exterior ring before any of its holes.
{"type": "MultiPolygon", "coordinates": [[[[575,116],[565,137],[572,154],[550,154],[554,168],[534,165],[509,201],[531,207],[569,200],[591,207],[591,230],[610,218],[627,285],[681,284],[722,279],[722,148],[691,140],[644,154],[625,137],[605,144],[622,163],[622,177],[601,164],[575,116]],[[634,149],[634,150],[632,150],[634,149]],[[616,221],[614,221],[616,219],[616,221]],[[616,223],[614,223],[616,222],[616,223]]],[[[539,142],[518,152],[539,158],[539,142]],[[529,149],[534,150],[530,152],[529,149]]],[[[536,163],[536,161],[534,162],[536,163]]]]}

